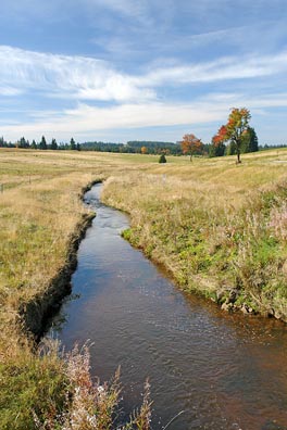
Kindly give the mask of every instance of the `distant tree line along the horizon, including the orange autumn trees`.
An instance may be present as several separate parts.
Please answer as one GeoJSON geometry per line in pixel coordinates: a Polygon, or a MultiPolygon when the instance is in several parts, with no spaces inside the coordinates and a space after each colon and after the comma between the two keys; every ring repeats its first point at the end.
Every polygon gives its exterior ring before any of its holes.
{"type": "Polygon", "coordinates": [[[137,153],[137,154],[164,154],[164,155],[189,155],[192,156],[224,156],[236,155],[237,159],[241,153],[264,151],[269,149],[286,148],[282,144],[259,146],[254,128],[250,127],[248,121],[249,111],[246,109],[234,109],[229,115],[226,125],[221,126],[217,134],[213,136],[211,143],[203,143],[195,135],[185,135],[182,141],[165,142],[153,140],[130,140],[127,143],[114,143],[102,141],[88,141],[78,143],[74,138],[66,142],[57,142],[52,139],[47,142],[45,136],[36,142],[29,141],[22,137],[16,142],[4,140],[0,137],[0,148],[21,148],[33,150],[72,150],[72,151],[98,151],[98,152],[118,152],[118,153],[137,153]],[[244,121],[246,122],[244,124],[244,121]]]}

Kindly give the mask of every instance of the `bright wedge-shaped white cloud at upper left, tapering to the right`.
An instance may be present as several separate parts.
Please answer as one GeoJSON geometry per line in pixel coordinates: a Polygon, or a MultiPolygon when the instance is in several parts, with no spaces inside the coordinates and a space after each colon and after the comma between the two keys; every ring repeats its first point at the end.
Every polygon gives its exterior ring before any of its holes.
{"type": "Polygon", "coordinates": [[[85,56],[54,55],[0,47],[0,85],[21,91],[40,91],[49,97],[130,101],[154,96],[137,87],[100,60],[85,56]]]}

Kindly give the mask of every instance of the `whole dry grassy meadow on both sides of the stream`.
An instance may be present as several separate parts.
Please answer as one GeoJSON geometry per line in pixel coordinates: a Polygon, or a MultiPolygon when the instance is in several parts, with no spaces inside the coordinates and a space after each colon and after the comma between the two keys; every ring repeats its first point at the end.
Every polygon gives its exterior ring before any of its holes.
{"type": "MultiPolygon", "coordinates": [[[[95,180],[107,179],[103,200],[130,214],[124,236],[164,265],[179,288],[225,309],[287,320],[287,151],[246,154],[241,165],[235,157],[190,163],[167,156],[165,165],[158,160],[0,150],[1,429],[61,428],[57,415],[72,407],[66,393],[78,381],[71,382],[68,363],[87,365],[87,353],[86,361],[75,354],[70,362],[53,349],[39,354],[27,329],[40,331],[43,303],[49,305],[61,274],[68,273],[83,225],[92,216],[80,195],[95,180]]],[[[92,390],[84,390],[84,397],[95,397],[92,390]]],[[[109,428],[116,393],[116,384],[107,388],[105,427],[84,428],[109,428]]],[[[66,425],[70,418],[61,419],[66,425]]]]}

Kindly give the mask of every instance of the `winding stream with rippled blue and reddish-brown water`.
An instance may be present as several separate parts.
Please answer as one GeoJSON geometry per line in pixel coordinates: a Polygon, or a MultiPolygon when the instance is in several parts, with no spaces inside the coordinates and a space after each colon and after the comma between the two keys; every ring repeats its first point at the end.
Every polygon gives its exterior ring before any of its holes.
{"type": "Polygon", "coordinates": [[[73,295],[51,331],[65,349],[92,342],[92,372],[121,365],[123,408],[140,404],[147,377],[152,429],[287,429],[287,330],[276,321],[226,315],[186,296],[123,240],[125,214],[85,195],[97,212],[78,251],[73,295]]]}

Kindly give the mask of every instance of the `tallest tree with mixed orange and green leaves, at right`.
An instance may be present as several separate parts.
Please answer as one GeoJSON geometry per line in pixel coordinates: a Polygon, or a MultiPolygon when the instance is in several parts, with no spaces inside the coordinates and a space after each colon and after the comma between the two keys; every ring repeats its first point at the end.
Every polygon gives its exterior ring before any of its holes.
{"type": "Polygon", "coordinates": [[[237,163],[241,163],[240,153],[242,137],[249,128],[250,118],[251,115],[248,109],[233,108],[227,124],[221,126],[217,134],[212,138],[212,143],[214,146],[220,146],[226,141],[233,143],[236,150],[237,163]]]}

